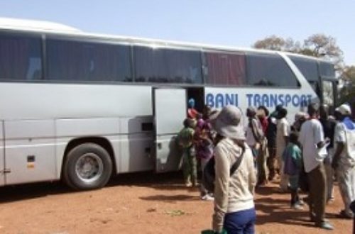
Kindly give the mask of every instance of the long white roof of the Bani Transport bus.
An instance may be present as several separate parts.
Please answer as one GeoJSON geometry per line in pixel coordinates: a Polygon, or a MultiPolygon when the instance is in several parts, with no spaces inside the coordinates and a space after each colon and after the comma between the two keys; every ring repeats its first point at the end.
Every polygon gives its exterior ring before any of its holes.
{"type": "MultiPolygon", "coordinates": [[[[295,55],[299,57],[304,57],[310,60],[322,60],[317,57],[310,57],[307,55],[299,55],[291,52],[281,52],[276,50],[263,50],[263,49],[253,49],[253,48],[238,48],[227,45],[211,45],[204,43],[188,43],[173,40],[160,40],[153,38],[137,38],[124,35],[109,35],[109,34],[99,34],[99,33],[86,33],[77,28],[71,26],[66,26],[61,23],[53,23],[50,21],[34,21],[27,19],[18,18],[0,18],[0,29],[6,30],[22,30],[27,32],[38,32],[38,33],[53,33],[60,35],[73,35],[79,37],[87,37],[93,39],[101,40],[120,40],[121,42],[128,42],[134,44],[144,44],[150,45],[153,48],[165,48],[165,47],[175,47],[175,48],[190,48],[190,49],[203,49],[203,50],[222,50],[222,51],[244,51],[244,52],[263,52],[267,54],[277,54],[284,53],[285,55],[295,55]]],[[[322,60],[324,62],[329,62],[322,60]]]]}

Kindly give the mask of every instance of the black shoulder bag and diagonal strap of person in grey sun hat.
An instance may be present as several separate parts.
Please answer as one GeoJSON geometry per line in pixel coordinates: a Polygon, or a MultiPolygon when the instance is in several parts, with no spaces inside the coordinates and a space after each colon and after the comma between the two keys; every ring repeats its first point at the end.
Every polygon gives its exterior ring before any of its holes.
{"type": "MultiPolygon", "coordinates": [[[[243,160],[244,151],[245,150],[241,152],[241,156],[237,158],[236,162],[234,162],[234,164],[231,165],[231,169],[229,169],[229,176],[234,174],[236,169],[238,169],[239,165],[241,165],[241,160],[243,160]]],[[[214,179],[216,177],[216,172],[214,171],[215,163],[216,162],[213,156],[209,159],[207,165],[204,166],[203,173],[202,173],[202,185],[204,186],[204,189],[206,189],[210,193],[214,192],[214,179]]]]}

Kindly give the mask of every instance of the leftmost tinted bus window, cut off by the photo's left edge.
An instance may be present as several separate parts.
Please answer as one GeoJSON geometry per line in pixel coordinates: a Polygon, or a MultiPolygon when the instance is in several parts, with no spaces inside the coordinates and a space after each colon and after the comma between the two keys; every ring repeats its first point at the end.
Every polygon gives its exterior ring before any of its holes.
{"type": "Polygon", "coordinates": [[[41,39],[0,35],[0,79],[42,78],[41,39]]]}

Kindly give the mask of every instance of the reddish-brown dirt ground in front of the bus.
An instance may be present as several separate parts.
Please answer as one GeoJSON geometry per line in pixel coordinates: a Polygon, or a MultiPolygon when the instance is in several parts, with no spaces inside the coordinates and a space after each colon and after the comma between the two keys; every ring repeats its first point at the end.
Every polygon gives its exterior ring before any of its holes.
{"type": "MultiPolygon", "coordinates": [[[[200,233],[210,228],[212,201],[185,189],[181,175],[124,174],[104,189],[75,192],[59,182],[0,189],[0,233],[200,233]]],[[[257,233],[351,233],[352,221],[337,218],[339,190],[327,206],[334,231],[315,228],[307,209],[289,208],[276,184],[257,189],[257,233]]]]}

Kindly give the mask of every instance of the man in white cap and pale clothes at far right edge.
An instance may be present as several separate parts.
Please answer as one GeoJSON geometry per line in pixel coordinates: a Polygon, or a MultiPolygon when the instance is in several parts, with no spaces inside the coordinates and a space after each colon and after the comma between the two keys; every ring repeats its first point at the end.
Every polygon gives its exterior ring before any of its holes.
{"type": "Polygon", "coordinates": [[[346,104],[339,106],[340,121],[335,126],[335,153],[332,167],[337,171],[339,190],[344,202],[342,218],[354,218],[350,209],[355,200],[355,123],[351,120],[351,108],[346,104]]]}

